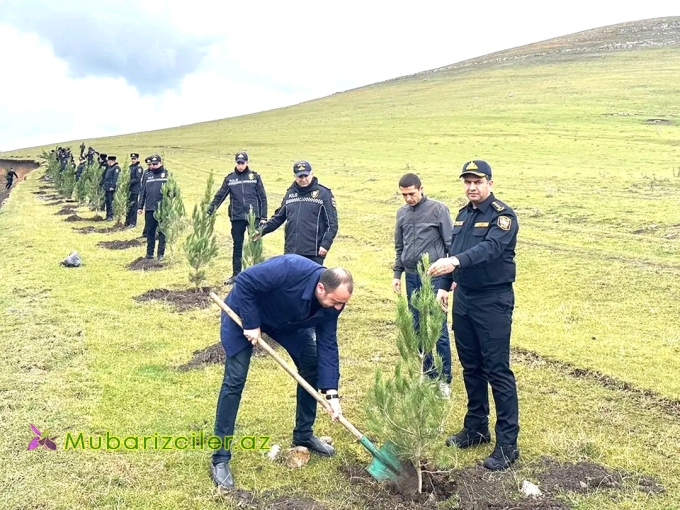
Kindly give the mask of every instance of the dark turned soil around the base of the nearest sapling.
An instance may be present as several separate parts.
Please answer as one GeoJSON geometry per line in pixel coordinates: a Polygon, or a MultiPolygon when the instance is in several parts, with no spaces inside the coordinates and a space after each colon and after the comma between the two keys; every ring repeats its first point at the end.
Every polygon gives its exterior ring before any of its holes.
{"type": "Polygon", "coordinates": [[[435,510],[448,500],[453,500],[456,508],[461,510],[568,510],[566,504],[556,499],[558,494],[621,491],[626,480],[632,481],[635,489],[641,492],[659,493],[664,490],[652,478],[627,475],[592,462],[560,464],[555,459],[543,457],[519,469],[522,471],[513,467],[506,471],[491,472],[477,464],[451,471],[424,471],[423,492],[406,494],[403,488],[379,484],[363,466],[346,465],[339,468],[357,487],[357,503],[384,510],[435,510]],[[523,473],[525,468],[526,473],[523,473]],[[543,496],[525,496],[519,490],[524,479],[535,483],[543,496]]]}

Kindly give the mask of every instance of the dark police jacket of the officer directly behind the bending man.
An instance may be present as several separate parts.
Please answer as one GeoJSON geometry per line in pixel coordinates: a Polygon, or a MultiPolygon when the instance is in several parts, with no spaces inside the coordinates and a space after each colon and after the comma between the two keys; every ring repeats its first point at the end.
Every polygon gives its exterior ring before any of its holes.
{"type": "Polygon", "coordinates": [[[268,234],[286,222],[284,253],[318,256],[319,247],[330,250],[338,233],[338,213],[330,188],[316,177],[306,188],[296,182],[288,188],[281,207],[262,229],[268,234]]]}

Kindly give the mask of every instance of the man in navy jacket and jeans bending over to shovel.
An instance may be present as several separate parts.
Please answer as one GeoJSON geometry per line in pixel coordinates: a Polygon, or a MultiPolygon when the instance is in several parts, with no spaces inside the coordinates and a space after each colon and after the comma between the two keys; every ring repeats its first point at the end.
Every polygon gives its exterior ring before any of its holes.
{"type": "MultiPolygon", "coordinates": [[[[219,487],[234,486],[229,469],[231,451],[224,448],[224,438],[234,434],[253,345],[261,333],[267,333],[288,351],[298,373],[326,394],[333,408],[332,418],[340,417],[337,327],[352,290],[349,271],[326,269],[292,254],[273,257],[237,276],[226,303],[241,317],[243,329],[225,313],[220,327],[226,361],[215,436],[222,439],[223,447],[215,451],[211,465],[213,481],[219,487]]],[[[293,445],[330,457],[335,454],[333,447],[313,435],[315,418],[316,400],[298,385],[293,445]]]]}

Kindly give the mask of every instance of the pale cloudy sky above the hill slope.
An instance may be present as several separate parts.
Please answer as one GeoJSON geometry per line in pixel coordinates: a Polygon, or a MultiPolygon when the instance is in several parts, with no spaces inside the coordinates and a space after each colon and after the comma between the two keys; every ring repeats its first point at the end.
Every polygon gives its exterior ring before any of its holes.
{"type": "Polygon", "coordinates": [[[288,106],[551,37],[680,15],[672,4],[0,0],[0,151],[288,106]]]}

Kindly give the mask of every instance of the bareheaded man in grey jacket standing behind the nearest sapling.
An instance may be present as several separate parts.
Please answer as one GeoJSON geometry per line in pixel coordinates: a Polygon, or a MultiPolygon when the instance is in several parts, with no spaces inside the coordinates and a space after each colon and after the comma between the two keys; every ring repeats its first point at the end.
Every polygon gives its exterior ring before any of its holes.
{"type": "MultiPolygon", "coordinates": [[[[453,223],[449,208],[445,204],[427,198],[423,194],[422,183],[416,174],[403,175],[399,179],[399,191],[406,205],[397,211],[397,225],[394,231],[397,256],[394,262],[392,288],[396,293],[401,292],[401,275],[406,273],[406,296],[411,313],[413,313],[413,326],[418,329],[418,312],[410,305],[413,291],[422,286],[418,275],[418,263],[425,253],[429,254],[431,261],[448,255],[453,223]]],[[[439,289],[440,278],[432,279],[432,288],[435,293],[439,289]]],[[[437,354],[442,358],[444,371],[439,389],[444,398],[449,398],[451,396],[451,343],[446,316],[442,323],[441,335],[437,340],[437,354]]],[[[423,366],[431,377],[440,377],[434,368],[432,355],[425,358],[423,366]]]]}

